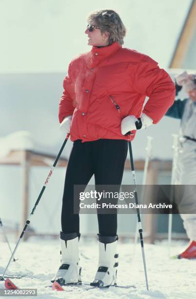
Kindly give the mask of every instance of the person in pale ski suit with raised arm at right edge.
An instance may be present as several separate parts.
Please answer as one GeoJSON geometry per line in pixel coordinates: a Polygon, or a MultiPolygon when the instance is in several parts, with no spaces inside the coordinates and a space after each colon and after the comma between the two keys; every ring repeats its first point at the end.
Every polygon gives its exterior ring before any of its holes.
{"type": "MultiPolygon", "coordinates": [[[[176,96],[181,88],[188,94],[186,99],[177,99],[166,115],[181,120],[179,150],[175,173],[175,185],[196,185],[196,75],[183,72],[176,77],[176,96]]],[[[185,189],[185,198],[180,206],[189,214],[180,214],[190,239],[188,247],[178,258],[196,258],[196,194],[192,187],[185,189]]],[[[180,208],[179,208],[180,211],[180,208]]]]}

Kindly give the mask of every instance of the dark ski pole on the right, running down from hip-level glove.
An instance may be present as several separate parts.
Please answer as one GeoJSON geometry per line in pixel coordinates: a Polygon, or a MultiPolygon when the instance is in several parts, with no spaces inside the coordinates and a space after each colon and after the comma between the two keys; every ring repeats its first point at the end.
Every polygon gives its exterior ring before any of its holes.
{"type": "MultiPolygon", "coordinates": [[[[133,175],[133,181],[134,181],[134,186],[135,186],[135,201],[136,205],[138,205],[138,198],[137,198],[137,183],[136,183],[136,172],[134,168],[134,159],[133,159],[133,152],[132,152],[132,146],[131,146],[131,141],[128,142],[129,144],[129,154],[130,154],[130,162],[131,162],[131,170],[132,170],[132,175],[133,175]]],[[[142,252],[142,258],[143,258],[143,265],[144,265],[144,273],[145,273],[145,279],[146,279],[146,288],[148,288],[148,278],[147,278],[147,270],[146,270],[146,259],[145,259],[145,254],[144,254],[144,244],[143,244],[143,235],[142,235],[142,226],[141,226],[141,218],[140,218],[140,213],[139,209],[137,208],[137,220],[138,220],[138,232],[140,236],[140,243],[141,243],[141,252],[142,252]]]]}

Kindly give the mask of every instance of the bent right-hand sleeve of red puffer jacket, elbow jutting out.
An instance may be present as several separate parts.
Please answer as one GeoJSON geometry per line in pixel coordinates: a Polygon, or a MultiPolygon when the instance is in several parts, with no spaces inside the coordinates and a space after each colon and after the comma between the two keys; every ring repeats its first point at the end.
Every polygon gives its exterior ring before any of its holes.
{"type": "Polygon", "coordinates": [[[168,73],[148,56],[140,61],[133,84],[137,92],[149,97],[142,112],[156,124],[174,103],[175,84],[168,73]]]}

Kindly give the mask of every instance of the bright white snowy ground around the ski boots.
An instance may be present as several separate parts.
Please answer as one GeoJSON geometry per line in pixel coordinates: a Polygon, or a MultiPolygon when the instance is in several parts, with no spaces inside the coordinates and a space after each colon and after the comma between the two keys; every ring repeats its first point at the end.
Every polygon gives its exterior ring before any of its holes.
{"type": "MultiPolygon", "coordinates": [[[[14,243],[11,243],[12,248],[14,243]]],[[[171,255],[183,248],[182,243],[173,243],[171,255]]],[[[82,280],[93,280],[97,270],[98,246],[92,241],[84,243],[81,240],[80,257],[82,280]]],[[[146,291],[140,244],[137,244],[135,256],[134,245],[118,244],[119,267],[118,285],[135,285],[136,288],[107,290],[85,290],[85,286],[68,287],[65,292],[52,291],[45,286],[50,284],[59,267],[59,242],[39,241],[31,239],[22,242],[17,250],[16,262],[12,262],[7,274],[27,274],[22,279],[13,279],[20,288],[37,288],[39,299],[55,298],[196,298],[196,260],[169,259],[164,243],[159,245],[145,244],[149,291],[146,291]]],[[[9,258],[7,244],[0,242],[0,273],[2,274],[9,258]]],[[[4,288],[0,281],[0,288],[4,288]]],[[[35,297],[30,297],[35,298],[35,297]]]]}

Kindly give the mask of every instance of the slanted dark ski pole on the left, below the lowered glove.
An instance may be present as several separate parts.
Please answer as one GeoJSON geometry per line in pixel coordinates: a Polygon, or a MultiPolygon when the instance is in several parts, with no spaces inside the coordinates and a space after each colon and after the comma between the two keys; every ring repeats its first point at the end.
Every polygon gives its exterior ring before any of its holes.
{"type": "Polygon", "coordinates": [[[2,277],[0,278],[0,280],[4,280],[4,276],[5,276],[5,274],[6,274],[6,271],[7,271],[8,267],[9,267],[9,264],[10,264],[10,262],[11,262],[13,256],[14,256],[14,254],[15,254],[15,252],[16,252],[18,246],[19,246],[19,243],[20,243],[20,241],[21,241],[23,235],[24,235],[25,232],[26,232],[26,229],[27,229],[28,225],[30,224],[30,218],[31,218],[31,216],[34,214],[34,212],[35,212],[35,210],[36,210],[36,207],[37,207],[38,204],[39,204],[39,200],[41,199],[41,196],[42,196],[44,190],[46,189],[46,186],[47,186],[48,181],[49,181],[49,179],[50,179],[50,177],[51,177],[51,175],[52,175],[52,173],[53,173],[53,171],[54,171],[54,168],[55,168],[55,166],[57,165],[57,162],[59,161],[59,157],[60,157],[60,155],[61,155],[61,153],[62,153],[62,151],[63,151],[63,149],[64,149],[64,147],[65,147],[65,145],[66,145],[66,143],[67,143],[67,140],[68,140],[68,138],[69,138],[69,135],[70,135],[70,134],[67,134],[67,136],[66,136],[66,138],[65,138],[65,140],[64,140],[64,142],[63,142],[63,144],[62,144],[62,146],[61,146],[61,149],[59,150],[59,153],[58,153],[58,155],[57,155],[57,157],[56,157],[56,159],[55,159],[55,162],[54,162],[54,164],[53,164],[51,170],[49,171],[49,174],[48,174],[48,176],[47,176],[47,178],[46,178],[46,180],[45,180],[45,183],[44,183],[44,185],[43,185],[43,187],[42,187],[42,189],[41,189],[41,191],[40,191],[40,193],[39,193],[38,199],[37,199],[37,201],[36,201],[36,203],[35,203],[35,205],[34,205],[34,207],[33,207],[33,210],[31,211],[31,214],[29,215],[29,218],[26,220],[25,226],[24,226],[24,228],[23,228],[23,230],[22,230],[22,233],[21,233],[21,235],[20,235],[20,237],[19,237],[19,240],[18,240],[18,242],[17,242],[17,244],[16,244],[16,246],[15,246],[15,249],[14,249],[14,251],[13,251],[13,253],[12,253],[10,259],[9,259],[9,262],[8,262],[8,264],[7,264],[7,266],[6,266],[5,270],[4,270],[4,273],[3,273],[2,277]]]}

